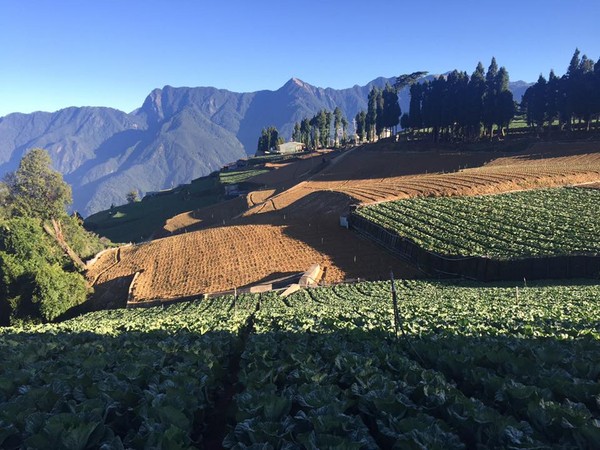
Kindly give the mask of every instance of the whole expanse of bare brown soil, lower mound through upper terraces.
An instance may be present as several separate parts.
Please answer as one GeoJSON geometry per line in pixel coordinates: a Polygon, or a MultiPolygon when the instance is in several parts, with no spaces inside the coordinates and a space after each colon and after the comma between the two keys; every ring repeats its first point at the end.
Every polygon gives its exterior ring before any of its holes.
{"type": "Polygon", "coordinates": [[[590,152],[591,144],[572,151],[547,147],[510,156],[359,148],[317,173],[320,156],[289,163],[255,177],[265,191],[176,216],[160,234],[166,237],[123,248],[121,261],[107,270],[101,258],[90,274],[101,285],[141,272],[138,302],[249,286],[302,272],[313,263],[325,269],[326,282],[381,279],[390,268],[399,278],[419,277],[416,268],[340,228],[340,213],[357,202],[600,183],[600,154],[590,152]],[[540,149],[546,152],[543,158],[540,149]],[[313,171],[311,178],[293,179],[307,170],[313,171]]]}

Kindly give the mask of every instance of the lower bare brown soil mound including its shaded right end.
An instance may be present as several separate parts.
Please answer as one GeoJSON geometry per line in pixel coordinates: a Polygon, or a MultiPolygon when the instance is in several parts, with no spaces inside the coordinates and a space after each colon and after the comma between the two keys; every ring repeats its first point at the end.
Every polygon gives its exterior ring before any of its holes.
{"type": "MultiPolygon", "coordinates": [[[[367,262],[376,263],[381,278],[390,268],[417,275],[416,270],[351,231],[312,224],[300,236],[296,233],[283,223],[247,224],[157,239],[123,249],[118,264],[94,274],[96,285],[109,285],[140,272],[130,301],[144,302],[249,286],[304,272],[313,263],[325,268],[329,281],[360,277],[367,262]]],[[[106,255],[106,259],[112,258],[106,255]]],[[[370,273],[374,270],[370,267],[370,273]]]]}

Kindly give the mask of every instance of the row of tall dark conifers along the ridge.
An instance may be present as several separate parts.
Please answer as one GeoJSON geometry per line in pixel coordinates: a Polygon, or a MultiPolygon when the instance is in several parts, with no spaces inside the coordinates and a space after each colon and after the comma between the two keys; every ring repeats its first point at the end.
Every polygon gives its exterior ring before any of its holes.
{"type": "MultiPolygon", "coordinates": [[[[514,101],[509,89],[507,69],[499,67],[496,58],[492,58],[487,71],[479,62],[470,76],[466,71],[453,70],[432,80],[419,81],[426,74],[401,75],[393,86],[373,87],[367,110],[353,118],[353,139],[363,143],[395,136],[398,125],[411,138],[433,142],[503,138],[517,114],[530,127],[527,131],[537,134],[544,127],[548,132],[553,128],[590,131],[594,121],[596,129],[600,123],[600,60],[594,63],[586,55],[580,57],[578,49],[562,77],[557,77],[554,71],[550,71],[548,80],[540,75],[520,104],[514,101]],[[406,86],[410,86],[409,111],[402,114],[398,92],[406,86]]],[[[276,132],[269,127],[263,130],[263,135],[267,130],[276,132]]],[[[292,140],[311,149],[345,145],[350,141],[348,121],[339,107],[333,112],[321,110],[312,118],[295,123],[292,140]]]]}

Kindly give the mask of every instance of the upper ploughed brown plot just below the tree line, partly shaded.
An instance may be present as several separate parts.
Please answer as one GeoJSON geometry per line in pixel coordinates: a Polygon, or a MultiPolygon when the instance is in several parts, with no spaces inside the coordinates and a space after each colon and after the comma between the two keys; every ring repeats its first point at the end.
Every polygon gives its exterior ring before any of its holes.
{"type": "MultiPolygon", "coordinates": [[[[339,164],[251,208],[247,214],[293,208],[299,199],[315,192],[339,192],[353,202],[369,204],[418,196],[493,194],[598,181],[598,144],[585,144],[538,144],[510,156],[492,152],[381,152],[358,148],[339,164]]],[[[340,209],[343,207],[340,203],[340,209]]]]}

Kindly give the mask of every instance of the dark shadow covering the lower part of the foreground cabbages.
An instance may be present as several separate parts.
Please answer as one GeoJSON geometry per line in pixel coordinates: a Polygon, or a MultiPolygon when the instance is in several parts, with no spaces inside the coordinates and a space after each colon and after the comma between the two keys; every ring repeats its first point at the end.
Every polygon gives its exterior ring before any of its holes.
{"type": "MultiPolygon", "coordinates": [[[[468,336],[460,331],[468,324],[452,320],[438,333],[396,339],[347,327],[356,318],[344,323],[346,313],[306,332],[275,331],[276,321],[261,333],[151,330],[159,315],[147,310],[147,322],[144,311],[96,322],[116,335],[2,333],[0,423],[9,425],[0,447],[66,448],[75,429],[94,430],[79,436],[81,448],[213,449],[224,439],[273,448],[597,444],[597,339],[527,337],[526,328],[468,336]]],[[[572,332],[598,324],[579,325],[552,324],[572,332]]]]}

